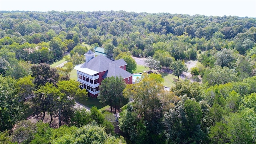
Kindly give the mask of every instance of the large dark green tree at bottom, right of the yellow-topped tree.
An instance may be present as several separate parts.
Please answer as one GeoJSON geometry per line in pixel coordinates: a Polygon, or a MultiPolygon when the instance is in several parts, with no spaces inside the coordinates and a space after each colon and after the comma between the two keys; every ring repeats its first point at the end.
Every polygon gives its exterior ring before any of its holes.
{"type": "Polygon", "coordinates": [[[164,125],[168,143],[206,142],[206,134],[201,129],[202,109],[198,102],[181,96],[175,108],[164,115],[164,125]]]}

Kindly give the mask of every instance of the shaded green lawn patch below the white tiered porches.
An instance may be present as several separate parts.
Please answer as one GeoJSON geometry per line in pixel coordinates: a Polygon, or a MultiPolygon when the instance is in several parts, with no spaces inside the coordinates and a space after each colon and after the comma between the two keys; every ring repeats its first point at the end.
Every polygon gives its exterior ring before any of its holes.
{"type": "Polygon", "coordinates": [[[76,98],[76,101],[79,102],[80,104],[88,106],[89,108],[96,106],[98,109],[102,109],[106,106],[104,104],[101,104],[98,98],[92,98],[90,96],[88,97],[87,100],[84,100],[83,98],[76,98]]]}

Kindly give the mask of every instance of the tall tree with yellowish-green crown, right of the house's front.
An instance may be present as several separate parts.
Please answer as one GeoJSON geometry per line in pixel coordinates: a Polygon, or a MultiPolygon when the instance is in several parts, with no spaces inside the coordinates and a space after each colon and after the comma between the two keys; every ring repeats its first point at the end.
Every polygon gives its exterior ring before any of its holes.
{"type": "Polygon", "coordinates": [[[141,118],[154,122],[161,117],[161,104],[158,93],[163,89],[148,74],[142,74],[140,81],[136,84],[129,84],[124,89],[124,96],[134,100],[134,107],[138,110],[141,118]]]}

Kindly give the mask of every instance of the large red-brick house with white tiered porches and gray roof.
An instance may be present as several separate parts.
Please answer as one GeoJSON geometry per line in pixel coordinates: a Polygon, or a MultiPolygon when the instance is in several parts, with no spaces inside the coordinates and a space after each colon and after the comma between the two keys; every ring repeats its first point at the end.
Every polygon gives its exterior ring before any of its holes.
{"type": "Polygon", "coordinates": [[[120,76],[126,84],[132,84],[132,74],[126,71],[124,59],[110,60],[103,55],[95,57],[92,50],[86,52],[84,64],[75,66],[77,70],[77,80],[81,88],[86,88],[90,96],[96,98],[100,93],[100,82],[106,77],[120,76]]]}

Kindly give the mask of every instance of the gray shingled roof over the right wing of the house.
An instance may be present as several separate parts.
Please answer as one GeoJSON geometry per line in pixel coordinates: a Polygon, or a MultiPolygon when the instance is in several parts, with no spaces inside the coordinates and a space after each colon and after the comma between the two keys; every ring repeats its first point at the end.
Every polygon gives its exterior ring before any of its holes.
{"type": "Polygon", "coordinates": [[[132,76],[130,72],[127,72],[126,70],[120,68],[119,66],[115,64],[109,64],[108,65],[108,71],[104,74],[103,78],[111,77],[111,76],[120,76],[122,78],[128,78],[132,76]]]}

